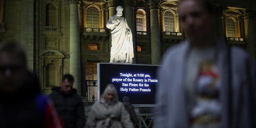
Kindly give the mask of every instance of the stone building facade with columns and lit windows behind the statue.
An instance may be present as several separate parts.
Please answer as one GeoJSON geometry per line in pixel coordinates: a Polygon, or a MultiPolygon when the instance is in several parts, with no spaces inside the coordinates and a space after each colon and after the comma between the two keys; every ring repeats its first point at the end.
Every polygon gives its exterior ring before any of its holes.
{"type": "MultiPolygon", "coordinates": [[[[256,62],[256,0],[214,0],[220,40],[244,48],[256,62]]],[[[132,31],[134,63],[158,64],[166,49],[185,39],[179,0],[0,0],[0,40],[25,46],[27,64],[50,93],[70,73],[82,96],[97,95],[98,62],[109,62],[105,24],[123,6],[132,31]]]]}

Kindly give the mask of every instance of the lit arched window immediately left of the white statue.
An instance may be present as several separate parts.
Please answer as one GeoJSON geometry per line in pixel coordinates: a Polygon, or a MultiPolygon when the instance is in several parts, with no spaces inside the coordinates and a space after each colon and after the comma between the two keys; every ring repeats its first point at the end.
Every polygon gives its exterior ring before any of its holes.
{"type": "Polygon", "coordinates": [[[99,28],[99,12],[94,6],[87,9],[87,27],[99,28]]]}

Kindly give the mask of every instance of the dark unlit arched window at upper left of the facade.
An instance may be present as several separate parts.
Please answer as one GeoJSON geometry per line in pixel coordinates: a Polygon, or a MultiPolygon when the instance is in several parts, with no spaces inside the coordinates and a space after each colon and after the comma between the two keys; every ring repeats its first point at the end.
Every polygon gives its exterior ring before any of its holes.
{"type": "Polygon", "coordinates": [[[45,8],[45,26],[56,26],[56,7],[49,3],[45,8]]]}

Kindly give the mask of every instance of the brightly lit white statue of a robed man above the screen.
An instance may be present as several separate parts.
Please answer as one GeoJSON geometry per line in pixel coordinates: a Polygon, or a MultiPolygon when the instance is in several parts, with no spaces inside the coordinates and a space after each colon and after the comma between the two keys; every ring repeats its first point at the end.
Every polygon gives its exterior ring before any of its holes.
{"type": "Polygon", "coordinates": [[[133,54],[132,33],[122,16],[122,6],[116,7],[116,14],[111,16],[106,27],[111,29],[112,42],[109,62],[127,62],[131,63],[133,54]]]}

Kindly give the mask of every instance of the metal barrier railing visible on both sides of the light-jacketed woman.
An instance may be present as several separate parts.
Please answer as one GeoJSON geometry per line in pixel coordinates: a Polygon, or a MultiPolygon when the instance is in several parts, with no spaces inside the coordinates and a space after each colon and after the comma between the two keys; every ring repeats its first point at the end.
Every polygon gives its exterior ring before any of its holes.
{"type": "MultiPolygon", "coordinates": [[[[155,128],[153,125],[153,114],[145,113],[145,114],[136,114],[138,119],[138,128],[155,128]]],[[[87,124],[89,114],[85,114],[85,127],[87,124]]]]}

